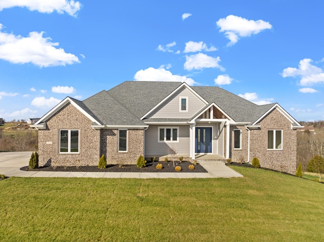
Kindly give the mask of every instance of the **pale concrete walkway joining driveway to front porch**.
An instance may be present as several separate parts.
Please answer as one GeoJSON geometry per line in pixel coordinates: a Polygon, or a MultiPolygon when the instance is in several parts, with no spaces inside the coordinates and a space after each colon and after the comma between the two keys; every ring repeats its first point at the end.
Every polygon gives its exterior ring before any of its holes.
{"type": "Polygon", "coordinates": [[[199,161],[208,173],[178,172],[61,172],[21,171],[28,166],[31,152],[0,152],[0,174],[21,177],[93,177],[93,178],[216,178],[242,177],[221,161],[199,161]]]}

